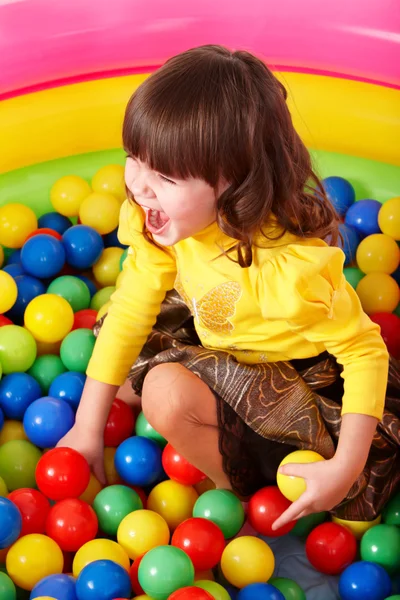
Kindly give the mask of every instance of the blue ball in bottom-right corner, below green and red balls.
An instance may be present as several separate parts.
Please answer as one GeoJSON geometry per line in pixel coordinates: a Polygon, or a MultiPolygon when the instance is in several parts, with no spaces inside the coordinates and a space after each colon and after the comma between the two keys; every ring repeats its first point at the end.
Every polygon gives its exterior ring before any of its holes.
{"type": "Polygon", "coordinates": [[[367,561],[353,563],[339,579],[342,600],[385,600],[391,591],[392,583],[385,569],[367,561]]]}

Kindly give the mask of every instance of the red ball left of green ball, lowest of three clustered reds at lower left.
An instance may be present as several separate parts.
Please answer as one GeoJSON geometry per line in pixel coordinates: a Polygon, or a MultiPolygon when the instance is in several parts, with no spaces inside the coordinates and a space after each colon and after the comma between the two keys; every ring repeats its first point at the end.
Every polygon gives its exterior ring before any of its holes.
{"type": "Polygon", "coordinates": [[[50,509],[46,533],[65,552],[76,552],[96,537],[97,516],[93,508],[78,498],[67,498],[50,509]]]}

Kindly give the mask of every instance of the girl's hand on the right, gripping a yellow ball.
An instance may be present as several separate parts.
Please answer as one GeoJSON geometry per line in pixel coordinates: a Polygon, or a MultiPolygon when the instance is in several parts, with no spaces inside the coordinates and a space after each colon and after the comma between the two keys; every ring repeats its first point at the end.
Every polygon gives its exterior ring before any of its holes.
{"type": "Polygon", "coordinates": [[[272,529],[278,529],[312,513],[331,510],[346,497],[358,476],[353,469],[346,470],[343,463],[335,457],[309,464],[287,464],[279,472],[303,477],[307,489],[274,522],[272,529]]]}

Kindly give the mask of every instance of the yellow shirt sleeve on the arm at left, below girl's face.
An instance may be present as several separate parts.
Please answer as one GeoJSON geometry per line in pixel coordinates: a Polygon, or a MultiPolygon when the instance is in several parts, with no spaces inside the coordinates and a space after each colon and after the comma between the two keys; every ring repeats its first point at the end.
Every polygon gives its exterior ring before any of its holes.
{"type": "Polygon", "coordinates": [[[143,236],[143,213],[126,200],[121,207],[118,239],[129,245],[120,287],[97,338],[87,374],[103,383],[122,385],[139,356],[176,277],[172,252],[143,236]]]}

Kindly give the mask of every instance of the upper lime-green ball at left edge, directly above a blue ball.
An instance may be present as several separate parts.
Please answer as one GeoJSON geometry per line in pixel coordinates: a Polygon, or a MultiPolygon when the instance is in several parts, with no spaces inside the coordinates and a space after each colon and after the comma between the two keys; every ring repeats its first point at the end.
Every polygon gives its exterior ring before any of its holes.
{"type": "Polygon", "coordinates": [[[35,338],[30,331],[18,325],[0,327],[0,363],[5,375],[30,369],[36,352],[35,338]]]}

